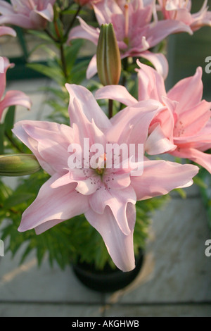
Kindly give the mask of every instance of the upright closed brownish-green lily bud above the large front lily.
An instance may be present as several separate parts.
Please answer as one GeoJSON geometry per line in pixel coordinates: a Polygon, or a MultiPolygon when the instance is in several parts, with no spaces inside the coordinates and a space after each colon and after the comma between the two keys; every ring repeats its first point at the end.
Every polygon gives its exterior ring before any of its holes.
{"type": "Polygon", "coordinates": [[[97,46],[98,77],[103,85],[117,85],[122,69],[120,49],[113,24],[101,25],[97,46]]]}

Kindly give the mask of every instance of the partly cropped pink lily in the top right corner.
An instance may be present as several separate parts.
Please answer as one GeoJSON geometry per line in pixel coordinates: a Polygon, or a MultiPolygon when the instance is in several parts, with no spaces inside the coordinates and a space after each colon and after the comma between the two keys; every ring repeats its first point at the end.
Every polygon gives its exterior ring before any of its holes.
{"type": "Polygon", "coordinates": [[[191,13],[191,0],[158,0],[158,9],[162,11],[167,20],[183,22],[192,31],[205,25],[211,26],[211,11],[208,11],[207,0],[198,13],[191,13]]]}

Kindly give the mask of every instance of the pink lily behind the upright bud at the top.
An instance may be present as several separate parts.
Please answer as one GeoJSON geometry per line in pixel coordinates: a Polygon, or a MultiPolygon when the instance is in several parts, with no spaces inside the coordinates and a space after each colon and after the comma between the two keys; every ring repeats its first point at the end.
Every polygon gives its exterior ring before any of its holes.
{"type": "MultiPolygon", "coordinates": [[[[174,20],[152,22],[155,11],[154,0],[132,0],[129,2],[126,0],[106,0],[93,4],[93,8],[100,26],[113,23],[121,58],[128,56],[146,58],[153,63],[163,77],[167,77],[168,73],[167,60],[163,54],[154,54],[149,49],[172,33],[193,33],[190,27],[174,20]]],[[[70,31],[68,42],[72,39],[82,38],[97,45],[99,29],[90,27],[82,18],[79,18],[79,23],[79,27],[70,31]]],[[[87,69],[87,78],[91,78],[96,73],[96,56],[94,56],[87,69]]]]}

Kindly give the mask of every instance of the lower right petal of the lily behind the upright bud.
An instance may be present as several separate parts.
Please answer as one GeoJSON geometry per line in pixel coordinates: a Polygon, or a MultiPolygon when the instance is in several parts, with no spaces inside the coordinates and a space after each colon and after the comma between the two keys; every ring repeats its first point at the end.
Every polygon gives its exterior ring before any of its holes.
{"type": "Polygon", "coordinates": [[[167,78],[169,73],[169,63],[163,54],[143,51],[143,53],[141,53],[141,57],[150,61],[164,80],[167,78]]]}

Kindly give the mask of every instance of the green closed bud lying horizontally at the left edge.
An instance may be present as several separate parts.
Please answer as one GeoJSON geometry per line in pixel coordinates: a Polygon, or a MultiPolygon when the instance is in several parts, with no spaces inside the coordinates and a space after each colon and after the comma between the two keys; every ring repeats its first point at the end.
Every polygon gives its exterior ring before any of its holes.
{"type": "Polygon", "coordinates": [[[18,177],[31,175],[40,170],[40,165],[34,155],[12,154],[0,156],[0,176],[18,177]]]}

